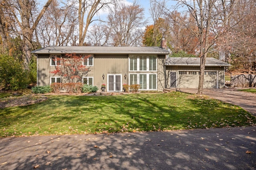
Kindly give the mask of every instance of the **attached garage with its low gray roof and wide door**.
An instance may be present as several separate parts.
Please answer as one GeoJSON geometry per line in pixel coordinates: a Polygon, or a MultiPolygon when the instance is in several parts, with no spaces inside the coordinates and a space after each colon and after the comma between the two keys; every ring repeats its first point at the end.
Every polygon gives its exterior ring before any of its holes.
{"type": "MultiPolygon", "coordinates": [[[[168,88],[198,88],[200,58],[168,57],[165,65],[168,75],[168,88]]],[[[204,88],[223,88],[225,67],[228,66],[230,64],[218,59],[207,58],[204,72],[204,88]]]]}

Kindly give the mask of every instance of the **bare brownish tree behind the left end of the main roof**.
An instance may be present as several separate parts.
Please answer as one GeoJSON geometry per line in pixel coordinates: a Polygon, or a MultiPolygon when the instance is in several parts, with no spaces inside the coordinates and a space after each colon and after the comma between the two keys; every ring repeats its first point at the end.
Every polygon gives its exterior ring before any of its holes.
{"type": "Polygon", "coordinates": [[[76,34],[77,25],[76,9],[73,4],[60,6],[57,0],[52,0],[37,28],[37,33],[43,46],[65,46],[74,44],[72,37],[76,34]]]}

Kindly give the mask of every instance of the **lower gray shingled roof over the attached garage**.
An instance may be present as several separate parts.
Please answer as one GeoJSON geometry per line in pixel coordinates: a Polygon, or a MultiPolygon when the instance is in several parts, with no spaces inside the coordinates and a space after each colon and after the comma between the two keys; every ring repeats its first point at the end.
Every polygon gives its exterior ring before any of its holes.
{"type": "MultiPolygon", "coordinates": [[[[200,57],[168,57],[165,65],[171,66],[200,66],[200,57]]],[[[229,63],[215,58],[206,58],[206,66],[230,66],[229,63]]]]}

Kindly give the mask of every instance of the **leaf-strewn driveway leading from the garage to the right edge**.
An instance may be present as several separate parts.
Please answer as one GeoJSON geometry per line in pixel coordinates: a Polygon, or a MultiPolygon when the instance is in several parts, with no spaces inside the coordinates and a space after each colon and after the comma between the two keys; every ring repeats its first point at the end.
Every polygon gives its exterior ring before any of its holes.
{"type": "MultiPolygon", "coordinates": [[[[185,93],[196,94],[197,89],[178,89],[185,93]]],[[[204,89],[204,95],[211,98],[238,105],[256,116],[256,93],[237,91],[236,89],[204,89]]]]}

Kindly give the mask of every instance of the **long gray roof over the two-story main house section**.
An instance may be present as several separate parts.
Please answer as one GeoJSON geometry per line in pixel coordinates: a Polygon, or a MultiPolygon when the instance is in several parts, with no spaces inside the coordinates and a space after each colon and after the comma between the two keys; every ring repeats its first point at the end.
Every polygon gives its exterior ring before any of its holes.
{"type": "Polygon", "coordinates": [[[95,47],[95,46],[49,46],[36,49],[34,54],[163,54],[169,51],[160,47],[95,47]]]}

